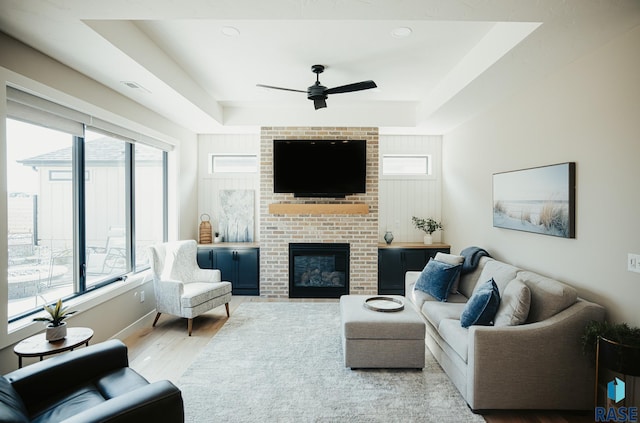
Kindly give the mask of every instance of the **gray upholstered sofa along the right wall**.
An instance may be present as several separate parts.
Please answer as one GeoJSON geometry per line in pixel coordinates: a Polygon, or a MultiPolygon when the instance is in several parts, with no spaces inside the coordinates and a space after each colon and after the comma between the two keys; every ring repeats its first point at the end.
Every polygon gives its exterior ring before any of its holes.
{"type": "Polygon", "coordinates": [[[594,367],[580,337],[588,321],[604,318],[603,307],[564,283],[489,257],[460,277],[446,302],[415,290],[419,275],[406,273],[406,297],[425,320],[427,347],[474,412],[593,409],[594,367]],[[501,296],[501,325],[463,328],[465,303],[476,284],[491,278],[501,296]],[[508,309],[522,286],[530,302],[524,321],[513,325],[508,309]]]}

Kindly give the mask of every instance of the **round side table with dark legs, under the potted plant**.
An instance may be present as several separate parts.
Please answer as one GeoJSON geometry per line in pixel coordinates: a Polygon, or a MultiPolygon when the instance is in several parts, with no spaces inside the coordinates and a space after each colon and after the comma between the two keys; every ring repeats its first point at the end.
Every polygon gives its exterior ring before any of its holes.
{"type": "Polygon", "coordinates": [[[66,338],[49,342],[45,338],[45,333],[42,332],[20,341],[13,347],[13,352],[18,356],[18,367],[20,368],[22,367],[22,357],[40,357],[40,361],[42,361],[47,355],[73,351],[74,348],[82,344],[88,346],[92,337],[93,329],[67,328],[66,338]]]}

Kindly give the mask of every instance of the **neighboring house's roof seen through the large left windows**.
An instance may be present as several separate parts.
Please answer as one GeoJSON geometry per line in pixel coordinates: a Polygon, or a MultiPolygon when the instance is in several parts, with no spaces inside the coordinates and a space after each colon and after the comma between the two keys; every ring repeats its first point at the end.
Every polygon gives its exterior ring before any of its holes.
{"type": "MultiPolygon", "coordinates": [[[[71,166],[72,148],[62,148],[38,156],[18,160],[25,166],[71,166]]],[[[149,150],[135,145],[136,163],[157,163],[161,159],[159,150],[149,150]]],[[[91,166],[118,166],[124,162],[124,144],[113,138],[98,138],[85,142],[85,163],[91,166]]]]}

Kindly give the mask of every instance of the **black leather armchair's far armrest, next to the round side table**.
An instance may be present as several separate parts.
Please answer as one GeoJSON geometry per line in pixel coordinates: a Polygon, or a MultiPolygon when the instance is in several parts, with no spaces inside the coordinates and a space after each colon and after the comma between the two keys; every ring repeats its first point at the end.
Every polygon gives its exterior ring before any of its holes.
{"type": "Polygon", "coordinates": [[[128,365],[127,346],[112,339],[39,361],[8,373],[5,378],[30,409],[42,398],[128,365]]]}

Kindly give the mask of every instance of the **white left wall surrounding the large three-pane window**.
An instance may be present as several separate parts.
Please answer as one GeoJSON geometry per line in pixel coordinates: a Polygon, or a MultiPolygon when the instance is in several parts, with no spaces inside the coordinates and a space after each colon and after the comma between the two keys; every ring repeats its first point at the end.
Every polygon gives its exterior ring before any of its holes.
{"type": "MultiPolygon", "coordinates": [[[[170,236],[195,236],[197,215],[197,143],[195,134],[98,84],[80,73],[0,33],[0,215],[6,216],[6,84],[15,84],[71,108],[176,145],[170,153],[170,236]]],[[[7,316],[7,226],[0,219],[0,372],[17,367],[13,344],[42,331],[42,324],[26,322],[9,327],[7,316]]],[[[94,329],[92,342],[126,334],[137,324],[150,324],[155,308],[149,278],[132,277],[116,283],[102,296],[86,295],[71,305],[78,314],[74,326],[94,329]],[[139,295],[145,291],[146,301],[139,295]]]]}

